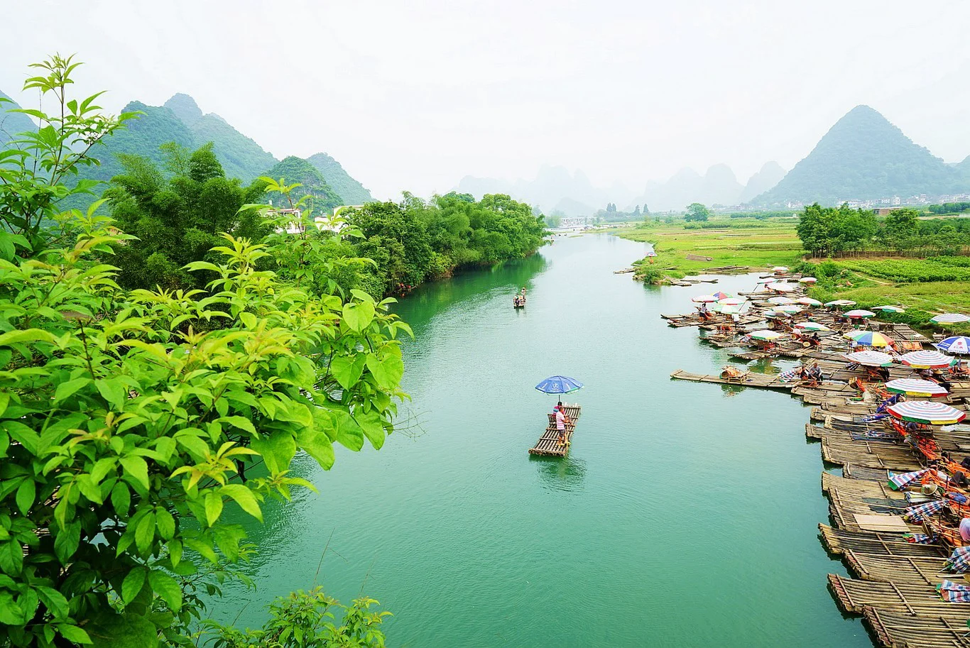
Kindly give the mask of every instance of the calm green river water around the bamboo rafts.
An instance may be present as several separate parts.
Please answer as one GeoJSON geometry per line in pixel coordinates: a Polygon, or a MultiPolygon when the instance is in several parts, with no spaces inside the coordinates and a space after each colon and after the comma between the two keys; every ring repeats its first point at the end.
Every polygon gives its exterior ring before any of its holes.
{"type": "Polygon", "coordinates": [[[405,299],[406,430],[338,452],[329,472],[298,459],[320,494],[267,507],[250,529],[258,589],[228,591],[220,616],[259,623],[269,600],[313,584],[329,541],[317,581],[379,599],[391,646],[871,646],[825,587],[845,568],[818,538],[808,409],[670,380],[727,362],[659,317],[715,288],[613,274],[644,251],[559,237],[405,299]],[[531,458],[555,402],[533,386],[556,373],[585,382],[567,399],[582,417],[566,460],[531,458]]]}

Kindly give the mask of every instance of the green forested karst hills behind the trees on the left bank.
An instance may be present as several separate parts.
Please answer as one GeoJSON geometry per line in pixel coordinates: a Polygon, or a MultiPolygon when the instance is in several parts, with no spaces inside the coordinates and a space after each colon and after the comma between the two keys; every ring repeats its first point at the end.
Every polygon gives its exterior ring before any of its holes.
{"type": "MultiPolygon", "coordinates": [[[[6,97],[2,92],[0,96],[6,97]]],[[[16,104],[4,104],[0,109],[0,147],[6,146],[11,135],[27,130],[34,130],[35,124],[26,115],[19,113],[4,113],[3,110],[16,108],[16,104]]],[[[215,113],[203,113],[195,100],[187,94],[176,94],[163,106],[147,106],[133,101],[124,107],[124,112],[138,111],[143,113],[136,119],[128,121],[126,127],[107,138],[103,146],[93,150],[93,154],[101,161],[97,167],[87,167],[82,171],[82,177],[108,181],[121,172],[121,165],[116,153],[133,153],[144,155],[155,162],[162,161],[159,146],[175,142],[180,146],[197,148],[212,143],[212,150],[229,178],[240,178],[248,183],[260,176],[269,175],[280,178],[280,171],[299,171],[301,178],[309,178],[314,182],[312,191],[325,196],[323,203],[329,206],[360,205],[372,200],[371,192],[363,184],[351,178],[339,162],[326,153],[316,153],[307,160],[288,157],[280,167],[280,160],[264,150],[233,128],[229,122],[215,113]],[[299,160],[303,164],[297,164],[299,160]],[[316,177],[307,174],[307,168],[316,172],[316,177]],[[323,180],[323,185],[319,183],[323,180]]],[[[297,178],[286,177],[287,181],[299,181],[297,178]]],[[[319,202],[318,202],[319,205],[319,202]]]]}

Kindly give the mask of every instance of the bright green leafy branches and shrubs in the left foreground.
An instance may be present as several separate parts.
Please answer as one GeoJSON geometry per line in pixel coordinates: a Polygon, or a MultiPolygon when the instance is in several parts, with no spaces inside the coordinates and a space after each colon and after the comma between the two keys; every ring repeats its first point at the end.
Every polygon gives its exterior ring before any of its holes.
{"type": "Polygon", "coordinates": [[[296,593],[240,632],[201,624],[202,597],[253,550],[227,512],[262,521],[313,489],[297,453],[329,469],[335,443],[381,447],[409,329],[391,300],[296,286],[228,234],[187,267],[206,291],[120,288],[99,259],[131,237],[56,199],[87,188],[62,183],[93,163],[78,143],[127,116],[69,100],[70,59],[43,67],[28,86],[73,116],[30,112],[37,137],[0,165],[0,646],[382,646],[372,599],[296,593]]]}

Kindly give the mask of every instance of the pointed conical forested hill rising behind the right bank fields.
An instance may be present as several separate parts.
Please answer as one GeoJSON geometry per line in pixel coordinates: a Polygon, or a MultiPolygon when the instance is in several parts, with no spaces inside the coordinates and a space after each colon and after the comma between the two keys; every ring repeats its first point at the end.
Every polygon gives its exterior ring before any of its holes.
{"type": "Polygon", "coordinates": [[[939,195],[970,189],[960,170],[934,157],[868,106],[857,106],[811,153],[754,201],[832,205],[850,199],[939,195]]]}

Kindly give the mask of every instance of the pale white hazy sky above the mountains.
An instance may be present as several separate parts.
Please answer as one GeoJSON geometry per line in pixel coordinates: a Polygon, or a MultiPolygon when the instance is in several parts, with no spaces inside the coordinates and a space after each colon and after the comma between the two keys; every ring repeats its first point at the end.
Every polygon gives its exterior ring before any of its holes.
{"type": "Polygon", "coordinates": [[[542,164],[633,189],[786,169],[857,104],[970,154],[966,0],[8,0],[0,89],[57,50],[113,111],[195,97],[277,157],[327,151],[377,197],[542,164]]]}

